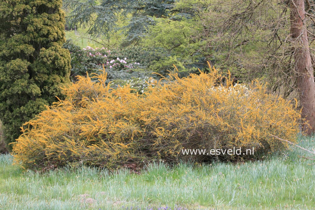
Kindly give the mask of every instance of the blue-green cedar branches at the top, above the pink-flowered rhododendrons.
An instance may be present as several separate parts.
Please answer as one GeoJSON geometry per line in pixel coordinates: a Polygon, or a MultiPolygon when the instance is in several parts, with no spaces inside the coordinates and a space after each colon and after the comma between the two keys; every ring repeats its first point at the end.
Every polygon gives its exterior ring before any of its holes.
{"type": "MultiPolygon", "coordinates": [[[[77,27],[87,26],[95,36],[109,36],[113,31],[122,30],[127,40],[138,41],[149,26],[154,25],[153,17],[169,17],[175,0],[65,0],[66,8],[72,9],[69,23],[77,27]],[[117,21],[125,22],[118,26],[117,21]]],[[[71,26],[70,26],[71,27],[71,26]]]]}

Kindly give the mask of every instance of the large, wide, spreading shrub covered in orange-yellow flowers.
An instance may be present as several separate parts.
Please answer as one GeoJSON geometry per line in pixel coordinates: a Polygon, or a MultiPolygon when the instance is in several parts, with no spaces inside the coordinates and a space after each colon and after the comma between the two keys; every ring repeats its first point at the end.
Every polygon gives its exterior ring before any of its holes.
{"type": "Polygon", "coordinates": [[[65,100],[27,122],[13,145],[15,163],[117,168],[154,159],[202,161],[182,149],[272,152],[288,145],[271,134],[296,142],[299,133],[301,113],[289,101],[267,94],[258,81],[233,86],[215,68],[187,78],[170,73],[142,95],[105,81],[106,73],[78,77],[64,89],[65,100]]]}

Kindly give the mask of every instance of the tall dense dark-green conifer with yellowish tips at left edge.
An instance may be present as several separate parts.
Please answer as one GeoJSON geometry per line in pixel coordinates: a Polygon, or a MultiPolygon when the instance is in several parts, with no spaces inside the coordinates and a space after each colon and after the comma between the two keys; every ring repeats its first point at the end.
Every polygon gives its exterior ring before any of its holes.
{"type": "Polygon", "coordinates": [[[69,81],[61,0],[0,3],[0,117],[8,142],[69,81]]]}

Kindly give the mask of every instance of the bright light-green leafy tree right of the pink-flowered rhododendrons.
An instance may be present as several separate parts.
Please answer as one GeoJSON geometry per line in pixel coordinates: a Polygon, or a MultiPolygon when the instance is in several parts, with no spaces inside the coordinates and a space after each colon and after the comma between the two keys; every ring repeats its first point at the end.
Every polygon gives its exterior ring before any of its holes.
{"type": "Polygon", "coordinates": [[[156,24],[149,27],[141,39],[141,46],[154,46],[153,50],[160,58],[150,69],[166,75],[174,64],[182,76],[198,73],[198,68],[204,69],[206,65],[204,55],[199,52],[202,42],[193,37],[200,30],[200,21],[198,18],[175,17],[156,19],[156,24]]]}

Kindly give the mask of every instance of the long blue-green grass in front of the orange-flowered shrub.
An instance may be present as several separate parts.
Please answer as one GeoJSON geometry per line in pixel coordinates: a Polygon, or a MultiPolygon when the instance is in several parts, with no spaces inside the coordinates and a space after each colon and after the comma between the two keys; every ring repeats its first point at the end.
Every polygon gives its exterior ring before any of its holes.
{"type": "MultiPolygon", "coordinates": [[[[314,138],[300,145],[313,149],[314,138]]],[[[88,167],[23,172],[1,155],[0,209],[314,209],[315,166],[301,155],[308,154],[293,148],[257,162],[151,164],[140,175],[88,167]]]]}

